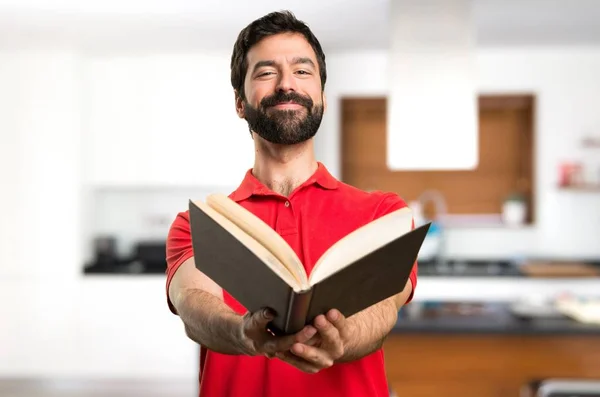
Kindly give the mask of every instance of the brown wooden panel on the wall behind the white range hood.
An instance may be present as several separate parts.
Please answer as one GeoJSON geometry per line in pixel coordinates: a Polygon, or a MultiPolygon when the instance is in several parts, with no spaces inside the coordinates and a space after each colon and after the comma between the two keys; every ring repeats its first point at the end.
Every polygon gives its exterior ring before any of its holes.
{"type": "Polygon", "coordinates": [[[497,214],[503,200],[518,191],[528,201],[532,221],[532,120],[530,96],[482,97],[476,170],[393,172],[385,161],[386,99],[343,99],[342,180],[365,190],[393,191],[406,201],[436,189],[454,214],[497,214]]]}

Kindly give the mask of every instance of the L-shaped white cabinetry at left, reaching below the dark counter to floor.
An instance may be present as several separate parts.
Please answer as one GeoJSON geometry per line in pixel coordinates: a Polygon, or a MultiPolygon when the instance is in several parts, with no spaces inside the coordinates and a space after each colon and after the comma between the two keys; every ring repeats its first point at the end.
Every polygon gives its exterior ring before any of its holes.
{"type": "MultiPolygon", "coordinates": [[[[162,277],[81,276],[82,61],[0,52],[0,377],[177,377],[197,350],[162,277]]],[[[191,389],[193,390],[193,388],[191,389]]]]}

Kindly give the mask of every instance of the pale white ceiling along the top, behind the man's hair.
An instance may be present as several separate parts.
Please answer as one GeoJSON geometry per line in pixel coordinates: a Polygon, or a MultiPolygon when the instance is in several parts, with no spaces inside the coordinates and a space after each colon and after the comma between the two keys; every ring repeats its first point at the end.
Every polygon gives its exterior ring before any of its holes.
{"type": "MultiPolygon", "coordinates": [[[[389,1],[0,0],[0,44],[229,51],[250,21],[290,9],[311,26],[327,51],[384,49],[389,1]]],[[[600,0],[473,1],[479,46],[600,45],[600,0]]]]}

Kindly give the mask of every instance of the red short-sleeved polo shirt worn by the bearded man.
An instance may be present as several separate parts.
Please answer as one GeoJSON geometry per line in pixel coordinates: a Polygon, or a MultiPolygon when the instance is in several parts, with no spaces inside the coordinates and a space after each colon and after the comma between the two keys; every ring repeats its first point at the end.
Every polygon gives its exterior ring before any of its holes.
{"type": "MultiPolygon", "coordinates": [[[[340,238],[406,206],[396,194],[367,193],[336,180],[321,163],[289,197],[271,191],[252,170],[229,197],[275,229],[296,251],[309,274],[319,257],[340,238]]],[[[177,215],[167,239],[167,291],[179,265],[192,255],[186,211],[177,215]]],[[[410,280],[414,290],[416,264],[410,280]]],[[[240,314],[246,312],[227,291],[223,294],[227,305],[240,314]]],[[[174,312],[171,302],[168,304],[174,312]]],[[[277,359],[224,355],[201,347],[200,395],[388,397],[389,390],[381,349],[360,360],[307,374],[277,359]]]]}

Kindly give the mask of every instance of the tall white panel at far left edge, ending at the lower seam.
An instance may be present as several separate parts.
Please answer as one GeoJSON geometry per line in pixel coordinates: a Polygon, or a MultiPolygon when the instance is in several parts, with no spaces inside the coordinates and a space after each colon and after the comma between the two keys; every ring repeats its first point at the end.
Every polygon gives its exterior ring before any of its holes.
{"type": "Polygon", "coordinates": [[[79,260],[79,62],[0,52],[2,279],[72,275],[79,260]],[[53,235],[57,232],[60,240],[53,235]]]}

